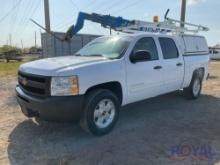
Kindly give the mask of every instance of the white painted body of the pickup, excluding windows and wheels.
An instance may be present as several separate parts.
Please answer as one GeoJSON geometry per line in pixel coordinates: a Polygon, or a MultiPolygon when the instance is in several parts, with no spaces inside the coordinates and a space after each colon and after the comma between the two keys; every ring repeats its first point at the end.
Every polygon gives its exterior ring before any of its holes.
{"type": "MultiPolygon", "coordinates": [[[[119,82],[123,92],[122,105],[187,87],[190,84],[193,72],[198,68],[204,68],[204,78],[207,77],[209,56],[198,53],[194,56],[182,56],[186,50],[182,36],[144,33],[130,35],[130,37],[129,47],[121,59],[67,56],[30,62],[22,65],[20,70],[44,76],[77,75],[79,78],[79,94],[81,95],[93,86],[107,82],[119,82]],[[132,64],[129,60],[131,51],[135,43],[143,37],[154,38],[159,60],[132,64]],[[179,58],[163,59],[158,37],[172,38],[178,47],[179,58]],[[177,63],[182,63],[183,66],[178,67],[176,66],[177,63]],[[155,66],[162,66],[162,69],[155,70],[155,66]]],[[[197,42],[197,39],[190,39],[189,42],[197,42]]],[[[190,43],[188,44],[190,45],[190,43]]],[[[207,47],[202,48],[202,50],[206,49],[207,47]]]]}

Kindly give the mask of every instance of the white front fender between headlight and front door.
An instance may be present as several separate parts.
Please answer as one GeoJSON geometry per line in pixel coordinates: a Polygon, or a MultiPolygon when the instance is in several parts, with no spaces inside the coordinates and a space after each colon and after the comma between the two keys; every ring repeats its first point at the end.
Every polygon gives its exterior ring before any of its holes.
{"type": "MultiPolygon", "coordinates": [[[[123,103],[125,103],[127,93],[124,68],[125,65],[122,59],[107,60],[99,64],[96,63],[94,65],[76,68],[72,74],[79,77],[80,94],[85,94],[90,87],[95,85],[107,82],[119,82],[123,91],[123,103]]],[[[66,72],[67,70],[63,70],[62,72],[66,72]]]]}

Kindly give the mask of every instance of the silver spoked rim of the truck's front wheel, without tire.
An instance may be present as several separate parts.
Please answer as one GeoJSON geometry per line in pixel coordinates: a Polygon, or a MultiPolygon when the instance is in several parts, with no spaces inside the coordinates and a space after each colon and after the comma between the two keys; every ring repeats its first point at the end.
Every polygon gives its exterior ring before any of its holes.
{"type": "Polygon", "coordinates": [[[115,117],[115,104],[110,99],[101,100],[95,107],[94,122],[98,128],[108,127],[115,117]]]}

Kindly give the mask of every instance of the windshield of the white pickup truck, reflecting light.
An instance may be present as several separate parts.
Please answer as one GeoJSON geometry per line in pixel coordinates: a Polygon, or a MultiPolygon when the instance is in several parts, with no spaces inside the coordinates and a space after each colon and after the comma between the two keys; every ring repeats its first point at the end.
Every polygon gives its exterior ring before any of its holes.
{"type": "Polygon", "coordinates": [[[103,56],[108,59],[120,58],[129,44],[129,37],[97,38],[79,50],[77,56],[103,56]]]}

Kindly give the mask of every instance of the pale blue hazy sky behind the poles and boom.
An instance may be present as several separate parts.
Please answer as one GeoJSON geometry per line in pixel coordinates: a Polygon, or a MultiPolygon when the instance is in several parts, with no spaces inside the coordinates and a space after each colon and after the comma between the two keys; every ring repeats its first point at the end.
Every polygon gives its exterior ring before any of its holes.
{"type": "MultiPolygon", "coordinates": [[[[181,0],[49,0],[52,31],[65,32],[75,24],[79,11],[88,13],[110,14],[126,19],[152,21],[158,15],[163,21],[169,8],[169,17],[180,18],[181,0]]],[[[44,0],[1,0],[0,1],[0,46],[9,44],[10,35],[13,46],[30,47],[41,45],[40,33],[44,32],[30,21],[30,18],[45,26],[44,0]]],[[[210,28],[201,32],[206,36],[210,46],[220,43],[220,1],[188,0],[186,21],[201,24],[210,28]]],[[[109,30],[99,24],[86,22],[80,33],[109,34],[109,30]]]]}

